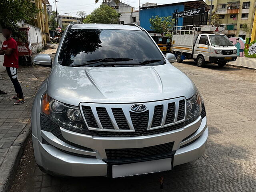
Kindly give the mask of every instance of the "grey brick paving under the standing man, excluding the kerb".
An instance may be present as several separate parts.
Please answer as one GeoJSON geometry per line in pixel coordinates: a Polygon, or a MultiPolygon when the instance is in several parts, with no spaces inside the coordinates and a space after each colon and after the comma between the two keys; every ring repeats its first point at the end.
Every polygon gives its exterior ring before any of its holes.
{"type": "MultiPolygon", "coordinates": [[[[0,177],[3,176],[3,162],[15,145],[17,137],[24,134],[24,128],[30,122],[30,111],[34,96],[42,81],[49,74],[50,68],[23,67],[18,69],[18,79],[22,86],[26,103],[14,105],[9,98],[15,95],[14,87],[6,71],[0,73],[0,89],[8,94],[0,94],[0,177]]],[[[16,141],[17,143],[17,141],[16,141]]],[[[0,183],[0,186],[2,183],[0,183]]]]}

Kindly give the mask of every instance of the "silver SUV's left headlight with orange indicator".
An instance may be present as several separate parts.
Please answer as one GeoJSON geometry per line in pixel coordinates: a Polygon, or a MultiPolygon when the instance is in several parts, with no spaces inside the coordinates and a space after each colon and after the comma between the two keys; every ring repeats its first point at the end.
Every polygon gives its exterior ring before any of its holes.
{"type": "Polygon", "coordinates": [[[89,134],[78,107],[58,102],[45,93],[42,97],[41,108],[42,113],[59,126],[68,130],[89,134]]]}

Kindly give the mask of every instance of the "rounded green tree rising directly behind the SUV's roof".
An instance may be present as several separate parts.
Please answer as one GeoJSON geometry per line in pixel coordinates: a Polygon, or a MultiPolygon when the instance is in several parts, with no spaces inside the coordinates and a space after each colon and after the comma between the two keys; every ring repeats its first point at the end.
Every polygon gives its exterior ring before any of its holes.
{"type": "Polygon", "coordinates": [[[101,5],[88,14],[83,23],[112,23],[117,24],[120,14],[112,7],[101,5]]]}

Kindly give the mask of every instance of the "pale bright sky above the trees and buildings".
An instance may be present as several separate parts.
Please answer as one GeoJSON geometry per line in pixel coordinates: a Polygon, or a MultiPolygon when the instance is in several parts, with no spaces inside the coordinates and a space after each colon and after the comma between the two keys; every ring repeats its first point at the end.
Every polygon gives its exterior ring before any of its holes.
{"type": "MultiPolygon", "coordinates": [[[[50,4],[52,5],[52,10],[55,10],[55,3],[54,0],[49,0],[50,4]]],[[[85,11],[86,14],[90,14],[95,8],[98,8],[103,0],[99,0],[97,4],[95,4],[95,0],[57,0],[57,11],[64,15],[65,13],[72,13],[72,16],[76,15],[77,11],[85,11]]],[[[120,0],[125,4],[129,4],[132,7],[138,8],[139,1],[138,0],[120,0]]],[[[140,6],[146,2],[149,3],[157,3],[158,5],[162,4],[170,4],[176,2],[183,2],[185,0],[140,0],[140,6]]],[[[136,9],[138,10],[138,9],[136,9]]]]}

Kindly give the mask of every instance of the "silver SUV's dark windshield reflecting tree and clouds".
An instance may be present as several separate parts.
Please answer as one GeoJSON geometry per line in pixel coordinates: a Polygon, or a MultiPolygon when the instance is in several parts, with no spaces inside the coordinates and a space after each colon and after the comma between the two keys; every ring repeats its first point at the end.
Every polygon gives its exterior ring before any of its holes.
{"type": "Polygon", "coordinates": [[[152,66],[165,64],[144,31],[69,29],[60,50],[63,66],[152,66]]]}

